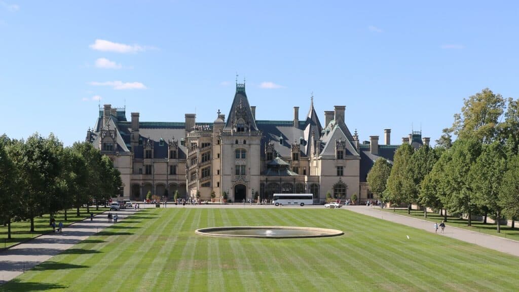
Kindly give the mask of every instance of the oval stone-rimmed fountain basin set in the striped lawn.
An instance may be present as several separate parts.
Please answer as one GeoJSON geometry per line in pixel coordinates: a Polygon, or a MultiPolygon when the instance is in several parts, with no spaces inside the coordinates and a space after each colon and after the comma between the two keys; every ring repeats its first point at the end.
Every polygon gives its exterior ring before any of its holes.
{"type": "Polygon", "coordinates": [[[254,238],[308,238],[343,235],[340,230],[313,227],[285,226],[236,226],[211,227],[195,231],[197,234],[221,237],[254,237],[254,238]]]}

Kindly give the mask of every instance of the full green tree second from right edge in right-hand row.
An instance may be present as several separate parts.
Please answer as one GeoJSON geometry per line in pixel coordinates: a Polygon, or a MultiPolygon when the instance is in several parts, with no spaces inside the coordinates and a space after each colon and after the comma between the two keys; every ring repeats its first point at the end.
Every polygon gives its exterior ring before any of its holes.
{"type": "Polygon", "coordinates": [[[469,177],[476,202],[480,208],[485,208],[491,218],[497,222],[497,232],[501,232],[500,219],[502,205],[500,204],[500,189],[503,173],[506,171],[506,155],[502,143],[495,141],[483,145],[482,153],[472,165],[469,177]]]}

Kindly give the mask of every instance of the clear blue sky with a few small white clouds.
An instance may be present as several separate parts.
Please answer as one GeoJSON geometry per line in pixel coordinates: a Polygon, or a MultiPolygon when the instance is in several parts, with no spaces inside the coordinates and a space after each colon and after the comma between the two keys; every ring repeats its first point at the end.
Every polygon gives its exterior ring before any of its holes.
{"type": "Polygon", "coordinates": [[[101,105],[141,121],[228,115],[236,73],[258,120],[313,92],[361,140],[437,139],[463,98],[519,97],[516,2],[0,0],[0,133],[83,141],[101,105]]]}

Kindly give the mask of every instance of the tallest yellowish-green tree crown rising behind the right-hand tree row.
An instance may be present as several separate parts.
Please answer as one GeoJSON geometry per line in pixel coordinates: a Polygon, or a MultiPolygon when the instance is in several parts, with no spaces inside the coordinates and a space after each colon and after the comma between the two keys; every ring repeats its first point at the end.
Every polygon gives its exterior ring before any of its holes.
{"type": "Polygon", "coordinates": [[[503,97],[485,88],[463,100],[461,113],[454,115],[452,130],[459,138],[491,143],[497,135],[497,124],[503,109],[503,97]]]}

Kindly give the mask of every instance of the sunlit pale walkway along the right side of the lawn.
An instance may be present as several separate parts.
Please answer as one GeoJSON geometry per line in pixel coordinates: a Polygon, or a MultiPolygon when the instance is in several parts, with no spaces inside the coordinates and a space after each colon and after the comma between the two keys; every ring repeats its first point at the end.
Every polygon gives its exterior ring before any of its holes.
{"type": "MultiPolygon", "coordinates": [[[[411,218],[403,215],[393,214],[380,210],[378,207],[367,207],[367,206],[344,206],[343,208],[360,213],[363,215],[376,217],[384,220],[388,220],[395,223],[400,223],[410,227],[423,229],[429,232],[434,231],[434,223],[422,219],[411,218]]],[[[447,222],[448,224],[448,222],[447,222]]],[[[440,231],[438,231],[440,232],[440,231]]],[[[445,233],[440,236],[448,236],[455,238],[460,241],[465,241],[473,244],[477,244],[486,248],[495,249],[502,253],[507,253],[514,256],[519,256],[519,242],[509,240],[507,238],[498,237],[494,235],[484,234],[480,232],[474,232],[467,229],[461,229],[447,225],[445,227],[445,233]]]]}

